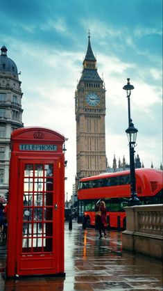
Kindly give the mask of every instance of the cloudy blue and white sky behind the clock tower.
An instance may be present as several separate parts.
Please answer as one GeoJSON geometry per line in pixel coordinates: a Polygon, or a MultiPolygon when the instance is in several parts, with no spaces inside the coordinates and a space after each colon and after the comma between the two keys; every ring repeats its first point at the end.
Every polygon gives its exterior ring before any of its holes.
{"type": "Polygon", "coordinates": [[[162,0],[0,0],[0,45],[22,73],[24,126],[68,138],[65,193],[76,175],[74,93],[87,33],[106,88],[106,153],[129,162],[126,79],[135,87],[131,117],[136,154],[145,167],[162,162],[162,0]]]}

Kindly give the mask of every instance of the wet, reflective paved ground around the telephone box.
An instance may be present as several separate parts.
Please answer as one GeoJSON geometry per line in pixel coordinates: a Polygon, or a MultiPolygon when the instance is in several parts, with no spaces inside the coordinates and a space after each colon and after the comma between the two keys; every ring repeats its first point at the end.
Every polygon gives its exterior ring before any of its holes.
{"type": "Polygon", "coordinates": [[[69,230],[69,223],[65,223],[65,277],[5,279],[5,240],[0,235],[0,290],[163,290],[162,262],[122,251],[121,236],[121,232],[111,230],[106,239],[98,239],[94,228],[83,230],[74,221],[69,230]]]}

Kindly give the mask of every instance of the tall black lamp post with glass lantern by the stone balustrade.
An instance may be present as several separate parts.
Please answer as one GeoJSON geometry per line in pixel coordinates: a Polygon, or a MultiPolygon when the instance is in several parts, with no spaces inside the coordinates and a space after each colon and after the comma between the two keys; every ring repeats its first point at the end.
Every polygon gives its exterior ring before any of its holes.
{"type": "Polygon", "coordinates": [[[128,98],[128,129],[126,129],[126,134],[128,136],[129,142],[129,152],[130,152],[130,190],[131,190],[131,198],[130,205],[138,205],[139,198],[137,198],[136,192],[136,178],[135,178],[135,146],[137,146],[137,132],[138,130],[135,128],[132,123],[132,119],[130,118],[130,94],[131,90],[134,89],[134,86],[130,85],[130,79],[127,79],[128,84],[123,86],[123,89],[126,90],[127,98],[128,98]]]}

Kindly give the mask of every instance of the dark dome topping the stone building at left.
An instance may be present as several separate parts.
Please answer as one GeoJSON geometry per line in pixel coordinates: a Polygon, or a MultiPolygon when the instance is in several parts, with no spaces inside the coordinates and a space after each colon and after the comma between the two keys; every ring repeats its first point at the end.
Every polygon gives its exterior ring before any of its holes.
{"type": "Polygon", "coordinates": [[[8,49],[3,45],[3,47],[1,47],[0,70],[17,74],[17,66],[10,58],[8,58],[7,51],[8,49]]]}

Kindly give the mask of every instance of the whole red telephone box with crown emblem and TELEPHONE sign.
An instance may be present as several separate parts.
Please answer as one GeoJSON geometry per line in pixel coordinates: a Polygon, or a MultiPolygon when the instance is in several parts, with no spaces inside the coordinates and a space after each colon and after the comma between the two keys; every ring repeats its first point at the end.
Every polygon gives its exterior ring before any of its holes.
{"type": "Polygon", "coordinates": [[[12,132],[7,276],[65,275],[64,142],[42,127],[12,132]]]}

